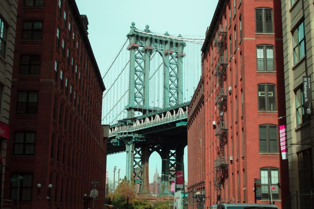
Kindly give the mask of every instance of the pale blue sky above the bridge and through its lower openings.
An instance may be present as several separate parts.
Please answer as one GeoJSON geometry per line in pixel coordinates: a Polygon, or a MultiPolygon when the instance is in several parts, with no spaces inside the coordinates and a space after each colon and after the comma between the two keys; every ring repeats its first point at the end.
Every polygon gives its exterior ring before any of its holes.
{"type": "MultiPolygon", "coordinates": [[[[121,49],[131,22],[139,30],[149,25],[149,30],[183,36],[205,36],[218,0],[76,0],[80,14],[86,14],[89,25],[89,41],[103,76],[121,49]]],[[[105,86],[107,87],[106,83],[105,86]]],[[[187,181],[187,147],[184,151],[187,181]]],[[[107,157],[109,179],[113,179],[113,167],[120,168],[120,178],[125,175],[126,154],[107,157]]],[[[149,158],[149,181],[156,171],[161,173],[161,158],[154,152],[149,158]]],[[[116,173],[116,179],[117,179],[116,173]]]]}

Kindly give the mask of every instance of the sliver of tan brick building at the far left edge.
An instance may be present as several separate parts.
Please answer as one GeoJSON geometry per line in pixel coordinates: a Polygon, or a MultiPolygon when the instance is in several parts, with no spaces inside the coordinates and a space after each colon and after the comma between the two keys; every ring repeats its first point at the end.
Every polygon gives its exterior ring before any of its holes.
{"type": "MultiPolygon", "coordinates": [[[[0,156],[3,156],[3,173],[5,172],[7,140],[10,132],[8,124],[17,5],[17,0],[0,1],[0,156]]],[[[1,180],[4,182],[4,178],[1,180]]]]}

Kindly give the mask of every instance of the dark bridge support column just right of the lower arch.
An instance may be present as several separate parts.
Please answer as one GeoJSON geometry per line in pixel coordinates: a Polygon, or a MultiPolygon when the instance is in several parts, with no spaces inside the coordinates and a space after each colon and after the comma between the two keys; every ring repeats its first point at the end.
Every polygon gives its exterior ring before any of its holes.
{"type": "MultiPolygon", "coordinates": [[[[163,149],[161,155],[161,159],[168,159],[169,158],[169,148],[163,149]]],[[[169,168],[169,161],[168,160],[162,160],[161,162],[161,174],[169,175],[170,176],[170,168],[169,168]]],[[[165,196],[168,195],[169,191],[169,177],[161,175],[161,183],[160,183],[160,195],[165,196]]],[[[170,191],[169,191],[170,192],[170,191]]]]}

